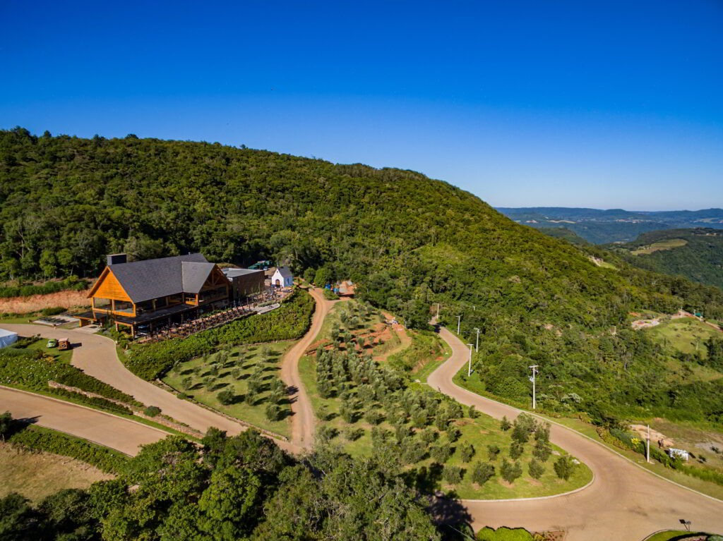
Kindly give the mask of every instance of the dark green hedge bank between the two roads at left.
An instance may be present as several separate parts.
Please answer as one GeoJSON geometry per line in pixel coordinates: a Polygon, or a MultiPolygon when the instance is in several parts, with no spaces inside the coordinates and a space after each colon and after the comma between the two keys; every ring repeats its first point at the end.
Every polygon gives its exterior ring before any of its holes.
{"type": "Polygon", "coordinates": [[[43,358],[42,351],[13,347],[0,350],[0,384],[20,384],[27,389],[46,391],[50,380],[127,404],[142,405],[129,394],[88,376],[74,366],[43,358]]]}

